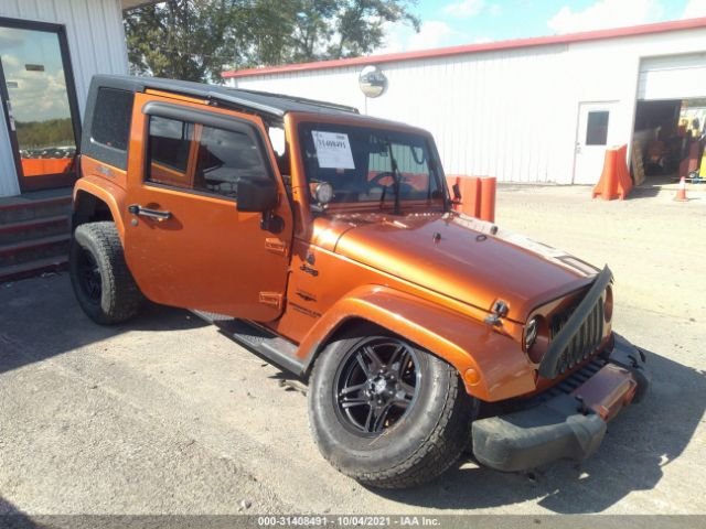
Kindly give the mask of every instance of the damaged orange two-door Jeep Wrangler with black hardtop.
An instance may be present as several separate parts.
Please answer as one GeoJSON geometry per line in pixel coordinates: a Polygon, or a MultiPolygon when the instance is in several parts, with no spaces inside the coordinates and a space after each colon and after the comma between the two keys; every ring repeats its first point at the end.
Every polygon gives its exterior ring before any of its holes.
{"type": "Polygon", "coordinates": [[[190,309],[308,380],[339,471],[407,487],[470,445],[522,471],[593,453],[650,385],[612,276],[453,210],[429,132],[195,83],[93,79],[71,278],[100,324],[190,309]]]}

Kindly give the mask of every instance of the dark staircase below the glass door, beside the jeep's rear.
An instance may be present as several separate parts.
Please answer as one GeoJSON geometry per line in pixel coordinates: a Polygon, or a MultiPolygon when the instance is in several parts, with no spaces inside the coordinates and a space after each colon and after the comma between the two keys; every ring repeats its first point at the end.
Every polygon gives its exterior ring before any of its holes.
{"type": "Polygon", "coordinates": [[[71,190],[0,198],[0,282],[65,268],[71,190]]]}

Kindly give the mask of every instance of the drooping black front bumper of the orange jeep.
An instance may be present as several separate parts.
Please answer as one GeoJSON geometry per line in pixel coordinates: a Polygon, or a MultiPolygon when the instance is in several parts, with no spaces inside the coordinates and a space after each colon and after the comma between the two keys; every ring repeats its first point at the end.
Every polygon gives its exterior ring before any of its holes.
{"type": "Polygon", "coordinates": [[[640,402],[651,382],[644,354],[613,336],[605,365],[571,391],[473,422],[475,458],[491,468],[517,472],[556,460],[581,461],[596,452],[608,421],[623,407],[640,402]]]}

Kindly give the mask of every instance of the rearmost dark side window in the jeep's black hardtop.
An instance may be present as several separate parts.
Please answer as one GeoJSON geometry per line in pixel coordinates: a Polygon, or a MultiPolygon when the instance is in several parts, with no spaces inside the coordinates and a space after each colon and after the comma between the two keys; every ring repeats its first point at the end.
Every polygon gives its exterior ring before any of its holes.
{"type": "Polygon", "coordinates": [[[90,123],[90,139],[101,145],[127,151],[132,114],[131,91],[99,88],[90,123]]]}

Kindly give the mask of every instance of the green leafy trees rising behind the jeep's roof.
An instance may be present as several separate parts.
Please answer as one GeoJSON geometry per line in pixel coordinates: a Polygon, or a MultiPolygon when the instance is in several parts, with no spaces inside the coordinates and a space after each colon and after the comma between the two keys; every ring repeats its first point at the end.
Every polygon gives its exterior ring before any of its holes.
{"type": "Polygon", "coordinates": [[[125,15],[133,73],[221,80],[228,67],[354,57],[385,23],[419,29],[415,0],[168,0],[125,15]]]}

